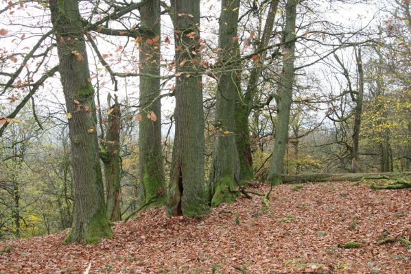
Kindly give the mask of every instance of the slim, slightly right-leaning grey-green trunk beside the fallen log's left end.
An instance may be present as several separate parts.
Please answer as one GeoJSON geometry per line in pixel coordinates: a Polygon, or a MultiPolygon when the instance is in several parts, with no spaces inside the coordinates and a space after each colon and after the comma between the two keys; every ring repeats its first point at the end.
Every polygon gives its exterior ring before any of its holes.
{"type": "Polygon", "coordinates": [[[288,125],[290,123],[290,109],[292,103],[292,86],[294,84],[294,52],[296,37],[296,0],[288,0],[285,5],[285,46],[283,49],[283,73],[279,97],[277,99],[277,127],[274,134],[274,151],[268,180],[271,184],[281,184],[283,159],[287,146],[288,125]]]}

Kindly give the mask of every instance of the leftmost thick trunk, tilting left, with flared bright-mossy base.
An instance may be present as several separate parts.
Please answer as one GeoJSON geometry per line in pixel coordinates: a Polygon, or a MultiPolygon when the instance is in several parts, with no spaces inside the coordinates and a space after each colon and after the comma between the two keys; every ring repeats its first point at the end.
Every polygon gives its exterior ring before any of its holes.
{"type": "Polygon", "coordinates": [[[84,29],[78,1],[50,0],[56,29],[60,79],[71,140],[75,197],[74,225],[67,241],[96,242],[113,235],[106,216],[104,186],[95,130],[94,91],[89,82],[84,29]]]}

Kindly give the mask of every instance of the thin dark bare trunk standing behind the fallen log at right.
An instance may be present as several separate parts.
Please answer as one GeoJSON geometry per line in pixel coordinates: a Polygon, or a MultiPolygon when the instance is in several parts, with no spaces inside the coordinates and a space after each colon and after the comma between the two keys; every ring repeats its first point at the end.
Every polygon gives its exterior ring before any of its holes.
{"type": "Polygon", "coordinates": [[[351,153],[351,173],[357,173],[358,144],[360,142],[362,98],[364,97],[364,71],[362,70],[361,49],[355,52],[358,71],[358,94],[355,98],[355,118],[353,127],[353,150],[351,153]]]}

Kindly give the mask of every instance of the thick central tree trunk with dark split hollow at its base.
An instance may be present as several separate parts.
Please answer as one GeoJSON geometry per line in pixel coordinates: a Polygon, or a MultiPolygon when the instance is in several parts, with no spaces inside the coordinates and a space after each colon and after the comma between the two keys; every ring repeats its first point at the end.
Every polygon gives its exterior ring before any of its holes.
{"type": "Polygon", "coordinates": [[[209,209],[204,182],[204,110],[200,64],[200,0],[172,0],[176,51],[176,132],[168,188],[170,215],[202,216],[209,209]]]}

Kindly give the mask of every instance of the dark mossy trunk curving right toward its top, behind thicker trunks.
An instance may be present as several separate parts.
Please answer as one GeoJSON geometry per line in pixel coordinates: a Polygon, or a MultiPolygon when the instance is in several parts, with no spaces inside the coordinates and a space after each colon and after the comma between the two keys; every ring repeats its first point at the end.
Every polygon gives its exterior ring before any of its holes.
{"type": "MultiPolygon", "coordinates": [[[[275,15],[277,14],[277,8],[279,0],[272,0],[270,3],[270,9],[268,10],[266,25],[264,25],[263,36],[257,47],[257,51],[261,51],[268,46],[270,37],[272,35],[272,29],[274,26],[275,15]]],[[[251,142],[250,142],[250,127],[248,125],[248,117],[253,108],[254,97],[258,91],[258,82],[261,74],[261,66],[263,60],[266,58],[266,51],[262,51],[259,54],[259,58],[255,64],[254,69],[250,73],[248,79],[247,90],[242,95],[241,92],[237,92],[237,99],[235,105],[235,125],[237,127],[236,143],[237,151],[239,154],[240,163],[240,179],[242,181],[253,178],[253,157],[251,154],[251,142]]]]}

